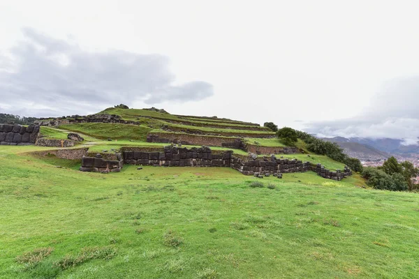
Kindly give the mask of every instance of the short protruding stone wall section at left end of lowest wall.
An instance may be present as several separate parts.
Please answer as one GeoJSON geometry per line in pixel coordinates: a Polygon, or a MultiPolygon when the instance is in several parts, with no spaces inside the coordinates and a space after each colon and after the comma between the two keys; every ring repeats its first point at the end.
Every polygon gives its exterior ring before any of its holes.
{"type": "Polygon", "coordinates": [[[103,158],[101,154],[96,154],[95,157],[84,156],[82,158],[82,166],[80,171],[82,172],[100,172],[102,174],[108,174],[109,172],[121,172],[124,167],[124,160],[122,159],[121,153],[113,154],[114,160],[103,158]]]}

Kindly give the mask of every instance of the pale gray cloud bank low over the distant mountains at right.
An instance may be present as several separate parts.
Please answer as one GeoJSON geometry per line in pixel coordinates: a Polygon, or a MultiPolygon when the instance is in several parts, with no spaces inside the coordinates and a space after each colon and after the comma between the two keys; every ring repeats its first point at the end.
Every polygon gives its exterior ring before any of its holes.
{"type": "Polygon", "coordinates": [[[398,78],[385,82],[360,116],[305,123],[304,130],[326,137],[388,137],[404,139],[404,144],[416,144],[419,136],[418,103],[419,77],[398,78]]]}

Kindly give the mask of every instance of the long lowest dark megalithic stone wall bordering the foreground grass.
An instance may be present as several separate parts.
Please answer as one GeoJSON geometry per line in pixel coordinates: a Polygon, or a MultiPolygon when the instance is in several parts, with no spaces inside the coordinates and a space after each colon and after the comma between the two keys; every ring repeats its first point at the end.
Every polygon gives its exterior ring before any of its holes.
{"type": "Polygon", "coordinates": [[[345,167],[344,171],[331,172],[322,165],[311,165],[300,160],[270,158],[252,160],[249,158],[238,158],[233,151],[223,153],[212,153],[209,147],[200,148],[179,148],[166,146],[163,151],[146,152],[138,150],[122,151],[122,158],[82,158],[84,172],[119,172],[124,164],[128,165],[154,165],[163,167],[232,167],[245,175],[254,174],[279,174],[288,172],[314,171],[325,179],[341,180],[352,174],[351,170],[345,167]]]}

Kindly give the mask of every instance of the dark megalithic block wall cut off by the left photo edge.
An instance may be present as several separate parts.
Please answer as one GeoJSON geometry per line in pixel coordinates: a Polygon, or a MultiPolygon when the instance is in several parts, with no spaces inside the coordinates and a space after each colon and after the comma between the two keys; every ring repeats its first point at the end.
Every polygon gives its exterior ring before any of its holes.
{"type": "Polygon", "coordinates": [[[39,126],[27,127],[19,124],[0,124],[1,145],[27,145],[34,144],[38,138],[39,126]]]}

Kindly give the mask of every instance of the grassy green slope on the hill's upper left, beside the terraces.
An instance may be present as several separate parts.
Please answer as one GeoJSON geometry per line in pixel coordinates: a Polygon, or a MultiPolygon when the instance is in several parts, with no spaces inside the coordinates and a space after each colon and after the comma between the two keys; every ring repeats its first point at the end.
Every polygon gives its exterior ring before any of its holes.
{"type": "Polygon", "coordinates": [[[126,125],[115,123],[78,123],[61,125],[59,128],[71,130],[96,137],[98,139],[124,139],[145,141],[151,128],[139,125],[126,125]]]}

